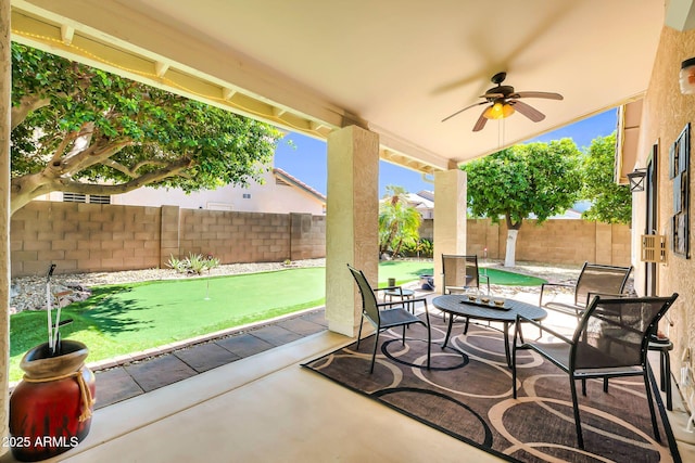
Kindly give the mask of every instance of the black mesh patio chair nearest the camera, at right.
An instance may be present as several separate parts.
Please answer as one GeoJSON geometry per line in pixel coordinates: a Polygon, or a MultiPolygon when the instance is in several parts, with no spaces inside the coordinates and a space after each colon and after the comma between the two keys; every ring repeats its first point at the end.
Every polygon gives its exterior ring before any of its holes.
{"type": "Polygon", "coordinates": [[[511,351],[511,388],[517,398],[517,350],[532,349],[553,362],[569,375],[569,386],[574,410],[574,425],[579,448],[584,448],[576,381],[582,381],[582,395],[586,396],[586,380],[603,378],[604,391],[608,378],[642,376],[646,389],[654,437],[660,441],[656,422],[647,364],[649,336],[671,307],[677,293],[670,297],[618,297],[595,296],[584,311],[571,338],[549,330],[540,323],[517,316],[511,351]],[[558,342],[527,342],[517,345],[521,321],[535,324],[551,333],[558,342]]]}

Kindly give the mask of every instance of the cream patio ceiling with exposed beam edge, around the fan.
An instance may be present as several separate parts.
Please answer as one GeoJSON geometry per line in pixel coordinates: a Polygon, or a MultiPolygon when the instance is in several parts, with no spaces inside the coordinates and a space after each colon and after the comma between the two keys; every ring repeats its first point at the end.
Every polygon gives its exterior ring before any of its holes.
{"type": "Polygon", "coordinates": [[[13,40],[432,172],[640,98],[664,0],[12,0],[13,40]],[[471,129],[507,72],[546,115],[471,129]]]}

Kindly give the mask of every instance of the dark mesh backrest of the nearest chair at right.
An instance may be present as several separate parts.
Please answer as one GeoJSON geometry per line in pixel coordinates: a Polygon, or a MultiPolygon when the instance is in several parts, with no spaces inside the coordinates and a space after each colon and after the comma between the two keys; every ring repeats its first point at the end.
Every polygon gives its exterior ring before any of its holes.
{"type": "Polygon", "coordinates": [[[574,332],[570,369],[644,365],[648,335],[677,297],[594,298],[574,332]]]}

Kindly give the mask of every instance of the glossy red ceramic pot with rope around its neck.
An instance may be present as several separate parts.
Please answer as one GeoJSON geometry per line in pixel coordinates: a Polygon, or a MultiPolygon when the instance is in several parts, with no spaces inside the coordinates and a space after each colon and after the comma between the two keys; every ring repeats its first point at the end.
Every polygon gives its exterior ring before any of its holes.
{"type": "Polygon", "coordinates": [[[48,343],[25,353],[24,380],[10,397],[10,447],[16,460],[34,462],[63,453],[89,433],[94,374],[85,366],[89,351],[64,339],[51,357],[48,343]]]}

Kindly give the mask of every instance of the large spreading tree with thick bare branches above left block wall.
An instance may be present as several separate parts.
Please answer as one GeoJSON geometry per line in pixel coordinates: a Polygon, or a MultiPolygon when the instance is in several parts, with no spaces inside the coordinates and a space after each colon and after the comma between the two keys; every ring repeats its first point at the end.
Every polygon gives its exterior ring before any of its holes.
{"type": "Polygon", "coordinates": [[[11,210],[51,191],[186,192],[260,180],[281,132],[12,43],[11,210]]]}

